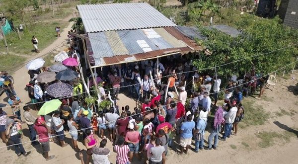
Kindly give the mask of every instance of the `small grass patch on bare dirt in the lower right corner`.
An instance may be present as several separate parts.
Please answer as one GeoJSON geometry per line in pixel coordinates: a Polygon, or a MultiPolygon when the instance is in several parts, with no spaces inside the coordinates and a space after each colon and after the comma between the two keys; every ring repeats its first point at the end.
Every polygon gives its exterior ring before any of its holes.
{"type": "Polygon", "coordinates": [[[274,145],[274,139],[279,137],[276,132],[260,132],[256,134],[261,142],[258,144],[261,148],[267,148],[274,145]]]}

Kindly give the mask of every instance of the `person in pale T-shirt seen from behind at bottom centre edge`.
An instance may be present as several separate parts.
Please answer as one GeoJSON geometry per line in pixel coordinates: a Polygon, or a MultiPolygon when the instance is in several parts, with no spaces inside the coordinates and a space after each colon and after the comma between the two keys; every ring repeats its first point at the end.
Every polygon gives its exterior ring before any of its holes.
{"type": "Polygon", "coordinates": [[[150,148],[149,154],[151,155],[149,164],[165,164],[165,148],[161,146],[159,138],[155,140],[155,146],[150,148]]]}

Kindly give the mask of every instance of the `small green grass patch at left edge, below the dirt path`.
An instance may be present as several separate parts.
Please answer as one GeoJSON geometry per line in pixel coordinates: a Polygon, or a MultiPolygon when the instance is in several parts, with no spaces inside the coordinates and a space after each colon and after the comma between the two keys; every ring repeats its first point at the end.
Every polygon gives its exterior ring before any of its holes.
{"type": "MultiPolygon", "coordinates": [[[[8,71],[24,62],[25,58],[15,55],[0,55],[0,71],[8,71]]],[[[11,71],[8,71],[10,73],[11,71]]]]}

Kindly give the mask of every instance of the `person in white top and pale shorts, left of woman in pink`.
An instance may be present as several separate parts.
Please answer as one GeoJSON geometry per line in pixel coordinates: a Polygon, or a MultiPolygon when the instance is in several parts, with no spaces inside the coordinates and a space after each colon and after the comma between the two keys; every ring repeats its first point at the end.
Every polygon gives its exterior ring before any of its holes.
{"type": "Polygon", "coordinates": [[[77,133],[78,126],[74,122],[74,115],[72,113],[68,116],[67,125],[70,128],[70,134],[72,136],[72,144],[74,146],[73,149],[75,152],[79,152],[80,149],[78,148],[77,143],[76,143],[77,135],[78,135],[78,133],[77,133]]]}

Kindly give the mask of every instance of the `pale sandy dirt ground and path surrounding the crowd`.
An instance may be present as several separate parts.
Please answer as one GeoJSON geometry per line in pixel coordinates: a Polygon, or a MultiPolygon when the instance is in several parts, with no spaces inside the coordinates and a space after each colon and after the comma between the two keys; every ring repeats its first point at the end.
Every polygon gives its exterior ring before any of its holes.
{"type": "MultiPolygon", "coordinates": [[[[51,44],[46,49],[42,50],[38,56],[44,56],[52,49],[60,47],[66,42],[67,31],[71,28],[71,24],[64,29],[61,33],[61,37],[58,38],[53,44],[51,44]]],[[[27,74],[27,69],[22,66],[13,75],[15,79],[15,90],[18,96],[21,98],[22,103],[29,102],[27,91],[24,90],[25,84],[29,82],[29,75],[27,74]]],[[[177,155],[175,151],[170,150],[167,155],[167,164],[178,164],[178,163],[237,163],[237,164],[247,164],[247,163],[286,163],[286,164],[298,164],[297,152],[298,152],[298,132],[291,130],[291,128],[298,128],[298,95],[297,95],[297,84],[298,82],[298,72],[295,71],[290,74],[290,78],[283,79],[278,78],[278,83],[276,84],[273,91],[266,89],[265,95],[262,100],[257,100],[253,97],[245,98],[244,101],[251,100],[254,105],[263,107],[270,114],[270,118],[264,125],[260,126],[248,126],[240,128],[237,136],[232,136],[227,139],[227,141],[219,141],[219,146],[217,150],[203,150],[198,154],[189,151],[188,155],[177,155]],[[293,77],[293,78],[292,78],[293,77]],[[295,90],[296,89],[296,90],[295,90]],[[277,114],[281,112],[282,114],[277,114]],[[285,112],[286,111],[286,112],[285,112]],[[284,114],[283,114],[284,113],[284,114]],[[278,122],[276,122],[278,121],[278,122]],[[278,134],[289,133],[289,141],[285,142],[279,138],[275,138],[271,142],[271,146],[267,148],[261,148],[259,143],[261,139],[257,135],[261,132],[276,132],[278,134]],[[199,159],[199,161],[198,161],[199,159]]],[[[7,98],[5,93],[0,97],[0,105],[6,105],[7,98]]],[[[136,103],[120,94],[119,106],[120,108],[124,105],[130,105],[131,108],[136,106],[136,103]]],[[[245,106],[244,106],[245,107],[245,106]]],[[[9,107],[4,107],[7,113],[11,113],[9,107]]],[[[258,109],[255,109],[258,110],[258,109]]],[[[23,112],[23,111],[22,111],[23,112]]],[[[36,115],[35,111],[31,111],[36,115]]],[[[239,123],[241,124],[241,122],[239,123]]],[[[22,142],[29,141],[28,130],[26,124],[23,124],[24,137],[22,142]]],[[[208,130],[207,130],[208,131],[208,130]]],[[[208,138],[209,132],[205,135],[205,140],[208,138]]],[[[70,135],[66,136],[66,142],[71,143],[70,135]]],[[[79,143],[79,148],[83,149],[82,143],[79,143]]],[[[206,144],[205,144],[206,145],[206,144]]],[[[2,148],[5,145],[0,143],[0,154],[1,154],[1,164],[79,164],[78,153],[67,146],[65,148],[59,147],[55,143],[50,143],[50,155],[55,155],[55,159],[46,162],[41,155],[41,147],[32,147],[30,143],[23,144],[26,151],[31,151],[28,157],[17,157],[12,150],[7,148],[2,148]]],[[[108,142],[107,147],[112,151],[112,144],[108,142]]],[[[194,145],[192,145],[194,147],[194,145]]],[[[116,154],[111,152],[109,160],[111,163],[116,163],[116,154]]],[[[141,164],[141,161],[135,160],[135,164],[141,164]]]]}

